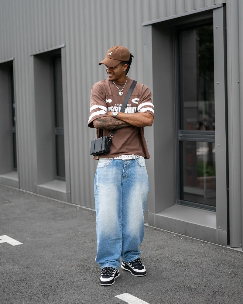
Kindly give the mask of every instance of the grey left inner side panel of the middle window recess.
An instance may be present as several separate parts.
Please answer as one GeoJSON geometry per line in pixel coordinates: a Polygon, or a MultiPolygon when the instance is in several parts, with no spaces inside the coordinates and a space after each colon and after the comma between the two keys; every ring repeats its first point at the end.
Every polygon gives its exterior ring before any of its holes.
{"type": "Polygon", "coordinates": [[[34,57],[37,184],[55,178],[53,70],[50,57],[34,57]],[[45,123],[43,123],[45,122],[45,123]]]}

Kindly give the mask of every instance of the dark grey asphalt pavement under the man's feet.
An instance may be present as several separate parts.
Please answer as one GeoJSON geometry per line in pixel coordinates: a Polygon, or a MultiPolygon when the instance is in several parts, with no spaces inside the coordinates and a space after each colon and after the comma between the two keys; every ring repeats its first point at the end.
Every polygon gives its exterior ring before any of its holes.
{"type": "Polygon", "coordinates": [[[243,303],[243,253],[145,226],[147,275],[99,285],[95,212],[0,186],[0,303],[243,303]]]}

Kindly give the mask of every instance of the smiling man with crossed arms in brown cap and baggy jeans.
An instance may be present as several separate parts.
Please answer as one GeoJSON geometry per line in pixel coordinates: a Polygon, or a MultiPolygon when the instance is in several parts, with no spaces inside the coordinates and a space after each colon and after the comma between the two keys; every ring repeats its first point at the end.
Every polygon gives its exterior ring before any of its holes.
{"type": "Polygon", "coordinates": [[[119,112],[132,79],[127,73],[132,54],[125,47],[111,47],[99,65],[106,66],[108,78],[91,90],[88,126],[97,137],[110,136],[111,151],[101,156],[95,180],[94,196],[97,221],[96,262],[102,268],[100,284],[112,285],[120,273],[146,275],[139,254],[144,236],[144,211],[149,193],[145,158],[150,158],[144,138],[145,126],[152,126],[154,106],[146,85],[137,82],[125,112],[119,112]],[[122,263],[120,262],[122,259],[122,263]]]}

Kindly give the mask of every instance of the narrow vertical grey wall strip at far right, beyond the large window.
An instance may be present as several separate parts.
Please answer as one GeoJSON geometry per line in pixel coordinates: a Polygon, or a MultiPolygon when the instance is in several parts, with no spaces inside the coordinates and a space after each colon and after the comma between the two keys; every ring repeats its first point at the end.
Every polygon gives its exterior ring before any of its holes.
{"type": "MultiPolygon", "coordinates": [[[[230,246],[241,243],[241,112],[239,95],[239,24],[238,1],[228,0],[227,71],[228,71],[228,144],[229,144],[229,223],[230,246]]],[[[242,12],[241,12],[242,13],[242,12]]],[[[241,37],[242,39],[242,37],[241,37]]],[[[242,68],[242,67],[241,67],[242,68]]]]}

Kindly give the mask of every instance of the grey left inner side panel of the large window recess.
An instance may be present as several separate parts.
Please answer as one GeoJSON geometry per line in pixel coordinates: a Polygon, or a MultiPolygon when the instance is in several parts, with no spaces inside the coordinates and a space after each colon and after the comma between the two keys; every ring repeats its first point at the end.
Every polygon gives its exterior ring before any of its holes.
{"type": "Polygon", "coordinates": [[[173,29],[152,26],[155,213],[176,202],[173,29]],[[162,157],[161,157],[162,156],[162,157]]]}

